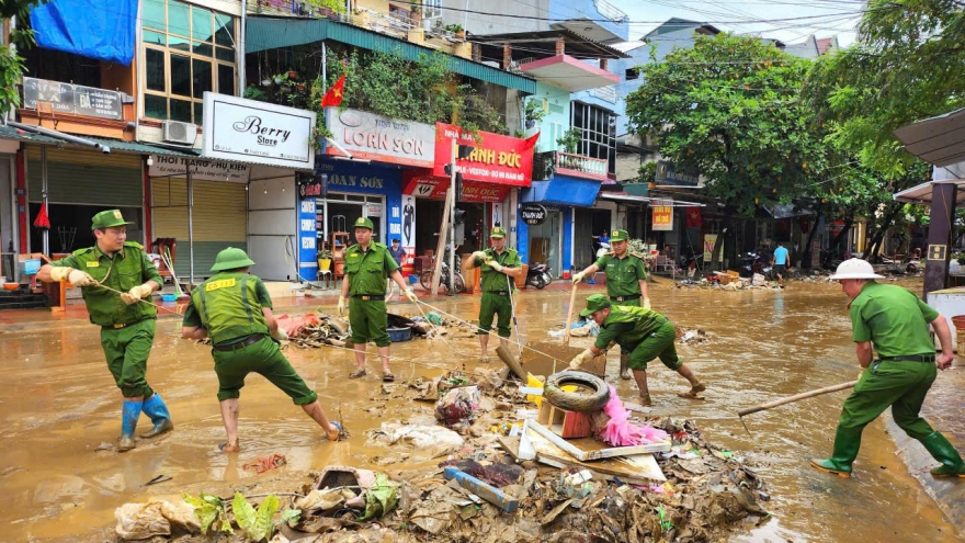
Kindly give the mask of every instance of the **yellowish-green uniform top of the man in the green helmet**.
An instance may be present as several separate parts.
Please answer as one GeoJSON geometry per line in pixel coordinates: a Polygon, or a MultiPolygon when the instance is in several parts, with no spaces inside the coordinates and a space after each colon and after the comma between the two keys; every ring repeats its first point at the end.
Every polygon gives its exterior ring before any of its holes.
{"type": "Polygon", "coordinates": [[[219,272],[191,292],[181,326],[203,327],[212,343],[231,344],[254,333],[270,333],[263,307],[271,309],[272,302],[260,278],[219,272]]]}

